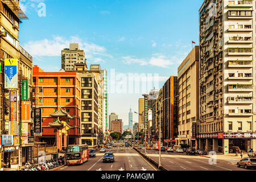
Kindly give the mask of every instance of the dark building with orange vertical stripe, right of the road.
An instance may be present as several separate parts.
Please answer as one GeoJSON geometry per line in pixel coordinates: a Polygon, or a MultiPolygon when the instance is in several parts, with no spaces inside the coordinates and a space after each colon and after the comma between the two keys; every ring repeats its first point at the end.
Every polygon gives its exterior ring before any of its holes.
{"type": "Polygon", "coordinates": [[[178,82],[177,76],[170,78],[163,85],[163,140],[167,145],[177,137],[178,126],[178,82]],[[175,97],[175,98],[174,98],[175,97]]]}

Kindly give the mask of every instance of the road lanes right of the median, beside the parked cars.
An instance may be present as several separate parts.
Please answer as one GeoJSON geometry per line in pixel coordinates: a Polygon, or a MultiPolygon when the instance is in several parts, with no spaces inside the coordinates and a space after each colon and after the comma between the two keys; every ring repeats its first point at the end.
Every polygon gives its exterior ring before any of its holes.
{"type": "MultiPolygon", "coordinates": [[[[144,147],[142,150],[144,154],[144,147]]],[[[156,162],[159,162],[158,150],[147,150],[146,155],[156,162]]],[[[212,161],[213,162],[213,161],[212,161]]],[[[236,162],[227,160],[216,160],[216,164],[209,163],[209,158],[184,153],[161,151],[161,164],[170,171],[248,171],[245,168],[238,168],[236,162]]],[[[253,171],[255,169],[249,169],[253,171]]]]}

